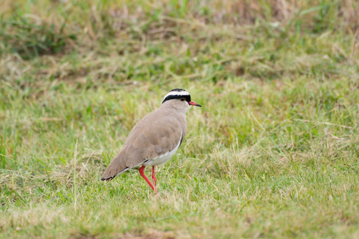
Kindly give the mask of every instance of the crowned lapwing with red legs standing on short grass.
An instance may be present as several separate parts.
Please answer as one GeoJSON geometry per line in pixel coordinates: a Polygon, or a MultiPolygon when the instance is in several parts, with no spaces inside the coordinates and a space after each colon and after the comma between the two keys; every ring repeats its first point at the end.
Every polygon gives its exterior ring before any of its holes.
{"type": "Polygon", "coordinates": [[[121,151],[108,164],[101,180],[111,181],[120,173],[141,166],[140,175],[157,194],[155,166],[171,159],[182,144],[187,130],[185,114],[192,105],[202,107],[191,101],[190,94],[183,89],[169,91],[161,106],[132,128],[121,151]],[[144,174],[146,166],[152,166],[153,184],[144,174]]]}

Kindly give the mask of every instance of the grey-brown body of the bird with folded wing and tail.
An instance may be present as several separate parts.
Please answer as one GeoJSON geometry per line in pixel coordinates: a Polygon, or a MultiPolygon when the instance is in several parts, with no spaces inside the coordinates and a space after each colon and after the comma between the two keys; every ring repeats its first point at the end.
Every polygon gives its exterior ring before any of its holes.
{"type": "Polygon", "coordinates": [[[126,169],[176,148],[186,133],[182,118],[180,120],[167,116],[161,110],[146,115],[131,130],[122,150],[112,159],[101,180],[112,180],[126,169]]]}

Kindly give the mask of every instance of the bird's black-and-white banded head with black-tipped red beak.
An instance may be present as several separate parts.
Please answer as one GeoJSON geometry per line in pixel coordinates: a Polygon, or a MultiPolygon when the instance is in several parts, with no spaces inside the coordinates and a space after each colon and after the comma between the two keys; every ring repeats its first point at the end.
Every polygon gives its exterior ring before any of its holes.
{"type": "Polygon", "coordinates": [[[194,101],[191,101],[190,93],[182,89],[173,89],[165,95],[162,104],[170,104],[173,108],[186,113],[191,105],[202,107],[194,101]],[[165,103],[166,102],[166,103],[165,103]]]}

